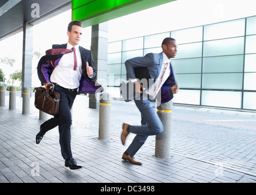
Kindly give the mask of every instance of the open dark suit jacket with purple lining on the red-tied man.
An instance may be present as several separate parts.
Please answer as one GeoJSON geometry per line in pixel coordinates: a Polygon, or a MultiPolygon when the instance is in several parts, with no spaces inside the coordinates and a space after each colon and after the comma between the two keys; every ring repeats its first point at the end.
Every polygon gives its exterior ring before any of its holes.
{"type": "MultiPolygon", "coordinates": [[[[67,44],[53,44],[53,49],[66,49],[67,44]]],[[[88,49],[85,49],[81,46],[79,46],[80,54],[81,54],[81,60],[82,60],[82,76],[80,79],[80,86],[79,86],[79,93],[98,93],[103,91],[102,87],[94,82],[94,79],[96,78],[96,70],[94,68],[94,61],[92,58],[91,51],[88,49]],[[93,75],[92,77],[88,77],[86,73],[86,62],[89,63],[89,66],[93,69],[93,75]]],[[[51,82],[50,76],[51,73],[53,73],[53,70],[56,66],[58,66],[59,61],[61,60],[61,57],[63,54],[57,54],[57,55],[44,55],[37,65],[37,74],[39,76],[39,79],[43,85],[43,83],[51,82]]]]}

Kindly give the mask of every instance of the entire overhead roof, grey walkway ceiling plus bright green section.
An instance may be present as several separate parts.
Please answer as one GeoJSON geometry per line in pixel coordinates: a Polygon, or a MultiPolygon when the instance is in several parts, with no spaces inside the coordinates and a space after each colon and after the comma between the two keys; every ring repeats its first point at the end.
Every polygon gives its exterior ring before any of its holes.
{"type": "Polygon", "coordinates": [[[1,0],[0,41],[72,9],[72,18],[84,27],[176,0],[1,0]]]}

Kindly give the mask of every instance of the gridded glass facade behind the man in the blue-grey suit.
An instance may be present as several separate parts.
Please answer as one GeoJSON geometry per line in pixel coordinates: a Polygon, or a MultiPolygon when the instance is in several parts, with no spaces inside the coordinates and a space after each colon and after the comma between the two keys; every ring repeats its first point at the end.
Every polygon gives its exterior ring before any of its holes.
{"type": "Polygon", "coordinates": [[[162,52],[165,37],[178,43],[171,59],[180,88],[174,103],[256,110],[256,16],[108,43],[113,97],[121,98],[124,62],[162,52]]]}

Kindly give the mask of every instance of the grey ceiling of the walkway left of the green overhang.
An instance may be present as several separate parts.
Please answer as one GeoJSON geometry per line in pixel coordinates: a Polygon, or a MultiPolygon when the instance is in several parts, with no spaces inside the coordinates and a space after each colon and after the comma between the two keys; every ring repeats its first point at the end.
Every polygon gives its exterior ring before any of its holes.
{"type": "Polygon", "coordinates": [[[1,0],[0,40],[23,30],[23,24],[37,24],[71,9],[71,2],[71,0],[1,0]]]}

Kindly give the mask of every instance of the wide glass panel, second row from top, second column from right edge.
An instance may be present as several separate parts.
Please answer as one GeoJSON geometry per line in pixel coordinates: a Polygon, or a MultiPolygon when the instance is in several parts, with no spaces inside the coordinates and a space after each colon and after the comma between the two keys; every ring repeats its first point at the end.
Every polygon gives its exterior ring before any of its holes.
{"type": "Polygon", "coordinates": [[[203,56],[236,55],[244,53],[244,37],[205,41],[203,56]]]}

